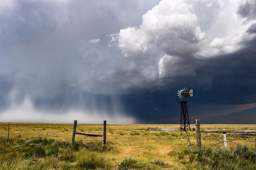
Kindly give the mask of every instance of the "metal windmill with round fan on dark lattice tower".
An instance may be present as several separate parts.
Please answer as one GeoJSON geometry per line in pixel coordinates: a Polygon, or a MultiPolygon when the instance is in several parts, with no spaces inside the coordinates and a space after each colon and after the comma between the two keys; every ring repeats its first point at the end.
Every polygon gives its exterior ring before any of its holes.
{"type": "Polygon", "coordinates": [[[178,97],[182,99],[182,102],[180,102],[180,130],[186,130],[188,128],[190,130],[189,112],[186,101],[184,100],[189,96],[193,97],[193,90],[191,89],[189,91],[187,88],[182,88],[178,90],[177,94],[178,97]]]}

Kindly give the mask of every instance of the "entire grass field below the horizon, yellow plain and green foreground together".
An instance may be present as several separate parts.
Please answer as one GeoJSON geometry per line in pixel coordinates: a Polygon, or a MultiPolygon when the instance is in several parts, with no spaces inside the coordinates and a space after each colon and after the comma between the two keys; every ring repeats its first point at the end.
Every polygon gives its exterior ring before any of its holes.
{"type": "MultiPolygon", "coordinates": [[[[76,131],[102,134],[102,126],[102,124],[77,124],[76,131]]],[[[193,153],[189,151],[186,133],[183,131],[148,131],[148,128],[179,127],[180,125],[107,124],[106,146],[102,146],[102,137],[85,137],[83,135],[76,135],[75,143],[71,145],[73,124],[11,123],[9,139],[6,141],[8,123],[0,123],[0,169],[229,169],[226,164],[222,166],[220,160],[220,163],[216,164],[215,158],[205,158],[208,163],[200,160],[201,152],[196,149],[195,131],[188,132],[193,153]]],[[[195,126],[191,125],[191,130],[193,127],[195,126]]],[[[256,125],[203,124],[200,125],[200,128],[255,130],[256,125]]],[[[216,155],[219,150],[225,150],[221,133],[201,133],[201,139],[202,148],[206,152],[209,151],[216,155]]],[[[255,157],[253,151],[255,134],[227,133],[227,141],[227,148],[231,152],[226,153],[225,151],[221,154],[230,155],[236,152],[238,146],[247,146],[248,150],[252,151],[249,153],[247,150],[248,154],[251,154],[250,159],[255,157]]],[[[236,155],[236,157],[238,156],[236,155]]],[[[246,161],[248,162],[248,160],[246,161]]],[[[256,168],[254,163],[246,165],[247,169],[256,168]]],[[[236,164],[229,166],[230,169],[241,169],[236,164]]]]}

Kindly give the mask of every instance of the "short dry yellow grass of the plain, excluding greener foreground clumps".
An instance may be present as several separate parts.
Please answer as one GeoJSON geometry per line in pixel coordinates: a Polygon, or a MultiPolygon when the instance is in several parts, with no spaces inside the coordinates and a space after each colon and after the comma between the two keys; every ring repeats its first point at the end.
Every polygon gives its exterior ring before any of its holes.
{"type": "MultiPolygon", "coordinates": [[[[78,122],[79,123],[79,122],[78,122]]],[[[102,134],[102,124],[77,124],[76,131],[102,134]]],[[[120,163],[125,158],[135,158],[137,160],[153,162],[155,159],[168,163],[169,169],[182,169],[189,161],[188,158],[182,160],[171,157],[168,152],[182,152],[189,150],[186,133],[184,131],[148,131],[148,128],[178,128],[180,125],[113,125],[107,124],[107,144],[111,144],[111,152],[104,152],[114,164],[120,163]],[[182,162],[183,161],[183,162],[182,162]]],[[[57,139],[71,141],[73,124],[24,124],[11,123],[9,139],[20,138],[29,139],[43,137],[47,139],[57,139]]],[[[193,125],[191,125],[191,130],[193,125]]],[[[200,125],[201,129],[256,129],[256,125],[200,125]]],[[[189,131],[192,148],[197,147],[196,132],[189,131]]],[[[0,137],[7,137],[8,123],[0,123],[0,137]]],[[[255,134],[227,134],[228,147],[237,144],[254,147],[255,134]]],[[[202,146],[221,148],[223,147],[223,135],[221,133],[202,133],[202,146]]],[[[87,143],[92,141],[102,141],[101,137],[85,137],[76,135],[75,141],[87,143]]]]}

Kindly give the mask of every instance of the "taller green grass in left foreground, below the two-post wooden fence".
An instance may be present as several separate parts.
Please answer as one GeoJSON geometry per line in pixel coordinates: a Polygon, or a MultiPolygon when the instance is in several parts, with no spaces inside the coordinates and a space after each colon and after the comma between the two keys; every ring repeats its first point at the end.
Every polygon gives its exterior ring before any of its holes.
{"type": "Polygon", "coordinates": [[[111,145],[98,143],[71,144],[67,141],[41,137],[6,142],[0,138],[0,170],[89,170],[112,168],[111,161],[101,152],[112,149],[111,145]]]}

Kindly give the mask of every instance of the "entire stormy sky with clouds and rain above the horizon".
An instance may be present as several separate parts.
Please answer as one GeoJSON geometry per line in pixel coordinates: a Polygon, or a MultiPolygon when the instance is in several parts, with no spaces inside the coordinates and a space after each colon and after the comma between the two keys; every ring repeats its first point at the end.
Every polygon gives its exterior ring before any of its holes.
{"type": "Polygon", "coordinates": [[[256,123],[255,0],[0,0],[0,122],[256,123]]]}

